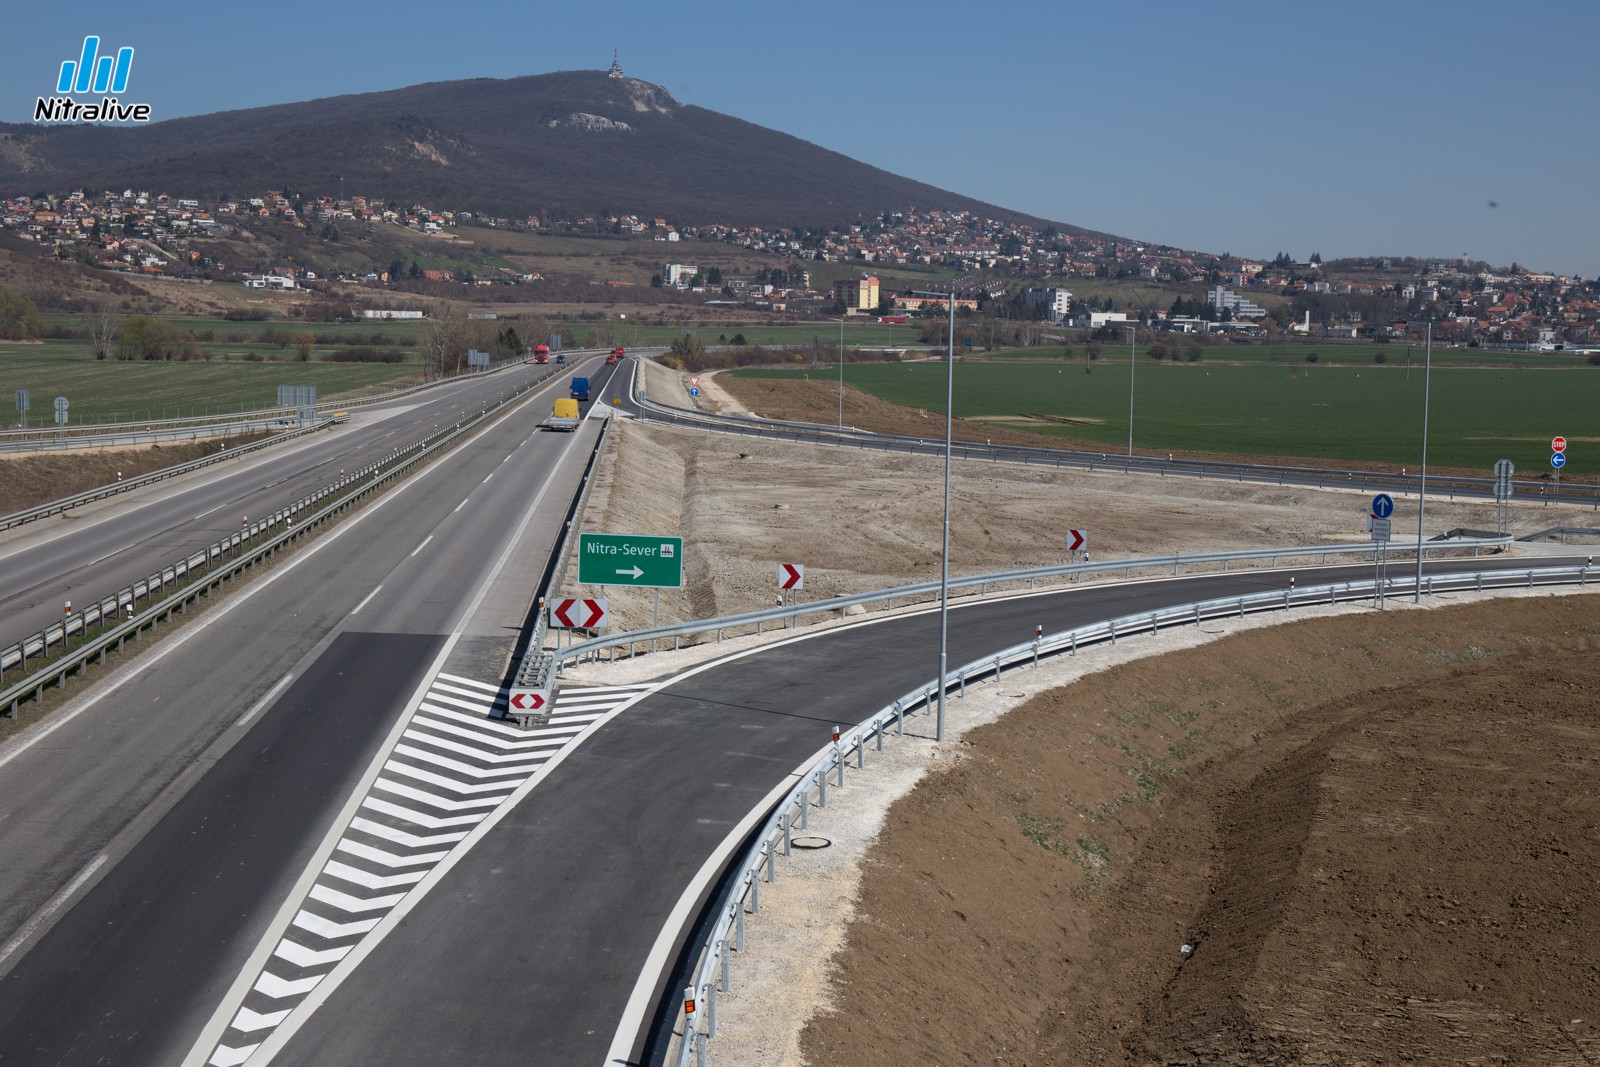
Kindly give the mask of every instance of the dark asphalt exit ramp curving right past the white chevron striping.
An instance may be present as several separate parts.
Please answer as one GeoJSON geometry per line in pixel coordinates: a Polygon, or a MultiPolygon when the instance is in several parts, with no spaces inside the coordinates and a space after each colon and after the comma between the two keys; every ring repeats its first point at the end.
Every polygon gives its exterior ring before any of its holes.
{"type": "MultiPolygon", "coordinates": [[[[1370,577],[1298,573],[1302,585],[1370,577]]],[[[1053,632],[1283,581],[1258,571],[970,605],[950,613],[950,664],[1024,641],[1035,624],[1053,632]]],[[[624,1014],[678,897],[835,723],[858,723],[938,672],[936,633],[936,613],[830,630],[646,696],[501,821],[274,1062],[602,1064],[619,1025],[626,1062],[654,1062],[674,1017],[624,1014]]],[[[683,976],[651,977],[651,1003],[675,1005],[683,976]]]]}

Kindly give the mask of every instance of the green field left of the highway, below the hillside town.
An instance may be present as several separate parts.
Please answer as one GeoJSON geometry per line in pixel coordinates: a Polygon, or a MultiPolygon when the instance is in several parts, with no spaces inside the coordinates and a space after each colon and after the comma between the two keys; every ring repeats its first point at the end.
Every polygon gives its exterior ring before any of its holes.
{"type": "MultiPolygon", "coordinates": [[[[238,323],[229,323],[238,325],[238,323]]],[[[251,323],[258,325],[259,323],[251,323]]],[[[0,344],[0,426],[16,426],[13,398],[29,390],[29,426],[54,424],[53,403],[66,397],[74,426],[254,411],[277,403],[278,386],[317,386],[338,400],[418,378],[418,363],[298,363],[293,350],[258,349],[283,362],[98,362],[83,341],[0,344]]],[[[410,355],[410,354],[408,354],[410,355]]]]}

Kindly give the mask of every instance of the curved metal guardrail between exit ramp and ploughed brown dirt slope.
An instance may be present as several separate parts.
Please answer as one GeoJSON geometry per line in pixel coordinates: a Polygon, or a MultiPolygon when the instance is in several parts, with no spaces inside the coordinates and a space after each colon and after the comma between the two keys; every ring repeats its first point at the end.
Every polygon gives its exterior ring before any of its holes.
{"type": "MultiPolygon", "coordinates": [[[[1590,576],[1600,576],[1600,573],[1595,573],[1590,566],[1464,571],[1424,576],[1422,592],[1432,595],[1557,584],[1587,585],[1590,576]]],[[[1376,581],[1336,582],[1330,585],[1309,585],[1298,590],[1222,597],[1120,616],[1043,635],[955,667],[947,675],[946,691],[955,689],[957,696],[963,696],[968,681],[990,675],[998,680],[1010,667],[1029,662],[1037,665],[1040,656],[1075,653],[1080,646],[1102,641],[1115,645],[1118,637],[1155,633],[1162,627],[1173,625],[1200,625],[1206,619],[1243,617],[1245,614],[1259,611],[1285,611],[1368,600],[1374,598],[1378,592],[1376,581]]],[[[1405,595],[1405,592],[1416,592],[1414,576],[1384,582],[1384,595],[1405,595]]],[[[706,1067],[707,1043],[717,1037],[717,995],[731,989],[733,953],[744,950],[744,917],[746,913],[755,915],[762,910],[762,881],[773,883],[778,880],[778,857],[790,854],[792,832],[806,827],[813,797],[819,808],[826,808],[829,777],[835,779],[835,789],[843,787],[845,769],[851,757],[854,757],[858,769],[866,768],[869,742],[875,742],[877,750],[882,752],[883,734],[888,728],[893,725],[896,736],[902,734],[906,715],[915,713],[917,709],[923,712],[931,710],[936,704],[938,691],[939,683],[934,678],[906,693],[854,728],[848,731],[835,728],[832,744],[826,745],[821,757],[800,773],[800,784],[778,801],[773,814],[752,838],[754,845],[738,861],[738,865],[731,869],[730,875],[725,877],[728,889],[722,894],[722,901],[715,909],[717,921],[698,947],[693,979],[683,990],[685,1011],[677,1013],[678,1022],[674,1027],[677,1056],[669,1056],[669,1062],[686,1067],[693,1057],[696,1067],[706,1067]],[[693,1006],[693,1011],[688,1009],[690,1006],[693,1006]]]]}

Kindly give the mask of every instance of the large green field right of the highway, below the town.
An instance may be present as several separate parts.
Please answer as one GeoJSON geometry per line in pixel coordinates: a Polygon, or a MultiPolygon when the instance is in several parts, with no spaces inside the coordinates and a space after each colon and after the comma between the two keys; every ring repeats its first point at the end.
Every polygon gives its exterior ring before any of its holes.
{"type": "MultiPolygon", "coordinates": [[[[1421,458],[1421,358],[1410,373],[1400,355],[1373,363],[1373,349],[1310,366],[1272,363],[1266,349],[1254,362],[1166,363],[1141,358],[1134,368],[1134,448],[1144,453],[1203,451],[1238,456],[1294,456],[1310,461],[1376,461],[1411,467],[1421,458]]],[[[1250,349],[1227,349],[1242,354],[1250,349]]],[[[1331,350],[1331,349],[1325,349],[1331,350]]],[[[1549,442],[1573,442],[1568,477],[1600,469],[1600,368],[1459,366],[1486,354],[1435,350],[1429,414],[1429,464],[1488,474],[1509,458],[1518,472],[1549,469],[1549,442]],[[1586,451],[1590,458],[1586,459],[1586,451]]],[[[1514,354],[1496,354],[1510,357],[1514,354]]],[[[1520,355],[1520,354],[1517,354],[1520,355]]],[[[805,371],[738,371],[754,378],[802,378],[805,371]]],[[[1093,363],[958,360],[955,414],[995,419],[1038,414],[1074,419],[1034,422],[1040,434],[1099,443],[1107,453],[1128,448],[1128,358],[1102,354],[1093,363]],[[1088,371],[1088,373],[1086,373],[1088,371]]],[[[944,411],[942,362],[846,365],[845,381],[893,403],[944,411]]],[[[1018,424],[1010,424],[1022,429],[1018,424]]]]}

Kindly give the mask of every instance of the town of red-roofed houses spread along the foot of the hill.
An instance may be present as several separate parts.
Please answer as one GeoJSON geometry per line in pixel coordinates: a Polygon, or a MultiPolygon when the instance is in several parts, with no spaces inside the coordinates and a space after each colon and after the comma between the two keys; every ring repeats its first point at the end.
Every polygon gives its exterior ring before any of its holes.
{"type": "Polygon", "coordinates": [[[259,254],[248,264],[229,262],[229,248],[238,250],[238,242],[248,246],[251,227],[267,226],[290,227],[330,246],[379,227],[442,242],[469,229],[651,240],[664,245],[659,272],[648,280],[621,277],[600,283],[608,290],[650,285],[763,312],[890,318],[942,314],[947,310],[942,299],[888,291],[872,274],[926,269],[958,272],[954,286],[938,285],[954,288],[958,310],[987,309],[986,314],[1086,330],[1141,325],[1240,339],[1294,334],[1390,339],[1419,334],[1424,323],[1432,323],[1434,336],[1451,344],[1530,350],[1600,346],[1600,283],[1536,274],[1517,264],[1493,269],[1466,256],[1323,262],[1312,254],[1299,262],[1278,253],[1270,261],[1256,261],[941,210],[891,211],[830,229],[763,229],[722,222],[675,226],[635,214],[509,219],[418,203],[400,206],[363,195],[312,197],[285,190],[216,202],[138,189],[0,202],[0,229],[32,242],[45,254],[104,270],[272,290],[320,288],[318,283],[403,290],[432,283],[430,291],[437,293],[438,283],[482,290],[541,280],[538,272],[515,267],[451,270],[418,267],[414,259],[349,270],[328,266],[331,256],[328,264],[318,262],[315,251],[290,262],[264,262],[259,254]],[[752,277],[731,277],[717,267],[669,262],[667,248],[682,242],[731,245],[770,256],[773,266],[752,277]],[[859,267],[861,277],[818,291],[806,261],[859,267]],[[1117,307],[1109,296],[1072,293],[1074,280],[1107,278],[1138,280],[1179,296],[1117,307]]]}

